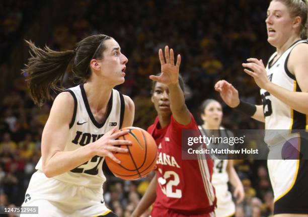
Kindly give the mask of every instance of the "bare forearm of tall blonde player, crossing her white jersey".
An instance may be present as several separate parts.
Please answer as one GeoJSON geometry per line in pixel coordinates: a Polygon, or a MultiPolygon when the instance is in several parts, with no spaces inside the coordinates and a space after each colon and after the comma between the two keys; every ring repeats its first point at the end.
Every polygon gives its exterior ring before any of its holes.
{"type": "Polygon", "coordinates": [[[266,90],[292,109],[308,115],[308,93],[293,92],[270,82],[266,90]]]}

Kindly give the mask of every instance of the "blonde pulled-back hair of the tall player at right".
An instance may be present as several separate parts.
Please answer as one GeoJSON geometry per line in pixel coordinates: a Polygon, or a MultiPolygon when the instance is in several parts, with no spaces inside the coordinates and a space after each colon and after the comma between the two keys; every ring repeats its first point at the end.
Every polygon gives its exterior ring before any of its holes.
{"type": "Polygon", "coordinates": [[[285,5],[290,13],[291,18],[300,17],[301,27],[300,27],[300,38],[307,39],[307,13],[308,6],[305,0],[272,0],[281,2],[285,5]]]}

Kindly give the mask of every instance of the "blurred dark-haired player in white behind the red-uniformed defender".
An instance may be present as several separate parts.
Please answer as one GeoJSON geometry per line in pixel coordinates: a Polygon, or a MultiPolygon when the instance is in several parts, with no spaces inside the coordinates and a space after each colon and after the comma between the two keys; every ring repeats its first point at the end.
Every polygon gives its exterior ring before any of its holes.
{"type": "MultiPolygon", "coordinates": [[[[225,130],[221,124],[222,108],[219,102],[213,99],[205,100],[201,105],[201,119],[203,124],[199,125],[201,133],[205,136],[230,137],[233,133],[225,130]]],[[[210,144],[210,148],[225,148],[225,144],[210,144]]],[[[235,216],[235,204],[232,195],[228,191],[228,181],[234,187],[234,196],[238,197],[237,202],[243,201],[245,193],[242,182],[233,167],[233,160],[227,160],[227,156],[212,156],[214,167],[212,184],[215,187],[217,197],[216,217],[235,216]]]]}

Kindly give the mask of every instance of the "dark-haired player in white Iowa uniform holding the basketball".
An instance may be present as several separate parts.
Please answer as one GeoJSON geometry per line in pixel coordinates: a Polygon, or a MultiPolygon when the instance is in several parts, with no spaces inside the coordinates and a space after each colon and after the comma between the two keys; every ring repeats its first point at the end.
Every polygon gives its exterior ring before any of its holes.
{"type": "Polygon", "coordinates": [[[105,157],[120,163],[112,152],[127,150],[115,146],[130,144],[117,140],[127,131],[115,131],[132,125],[134,104],[113,89],[124,82],[128,59],[106,35],[89,36],[64,52],[28,44],[32,57],[24,71],[37,104],[51,97],[69,62],[73,75],[85,83],[55,98],[23,206],[38,206],[39,215],[33,216],[116,216],[103,199],[102,164],[105,157]]]}

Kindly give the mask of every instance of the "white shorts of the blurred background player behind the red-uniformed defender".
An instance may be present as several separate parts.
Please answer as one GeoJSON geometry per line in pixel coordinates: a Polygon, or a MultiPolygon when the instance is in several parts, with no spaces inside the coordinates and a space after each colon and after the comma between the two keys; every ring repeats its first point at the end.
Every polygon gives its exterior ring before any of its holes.
{"type": "Polygon", "coordinates": [[[235,214],[235,204],[226,184],[214,185],[217,197],[216,217],[226,217],[235,214]]]}

